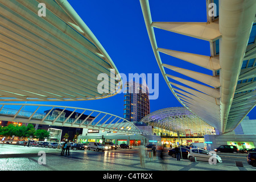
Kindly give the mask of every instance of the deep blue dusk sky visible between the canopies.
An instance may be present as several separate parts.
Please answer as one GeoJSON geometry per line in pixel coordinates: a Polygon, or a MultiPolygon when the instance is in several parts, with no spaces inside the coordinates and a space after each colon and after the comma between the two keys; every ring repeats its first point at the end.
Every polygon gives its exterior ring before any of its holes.
{"type": "MultiPolygon", "coordinates": [[[[108,52],[120,73],[127,76],[129,73],[151,73],[153,78],[155,73],[159,74],[159,96],[150,100],[151,112],[182,106],[168,88],[155,60],[138,0],[72,0],[69,3],[108,52]]],[[[153,22],[207,22],[205,0],[196,3],[190,0],[151,0],[150,9],[153,22]]],[[[157,28],[154,30],[160,48],[210,55],[209,42],[157,28]]],[[[186,69],[193,66],[171,56],[160,56],[163,63],[186,69]]],[[[212,75],[209,71],[207,73],[212,75]]],[[[121,93],[101,100],[36,103],[83,107],[123,117],[123,98],[121,93]]],[[[255,109],[251,110],[250,119],[256,119],[254,113],[255,109]]]]}

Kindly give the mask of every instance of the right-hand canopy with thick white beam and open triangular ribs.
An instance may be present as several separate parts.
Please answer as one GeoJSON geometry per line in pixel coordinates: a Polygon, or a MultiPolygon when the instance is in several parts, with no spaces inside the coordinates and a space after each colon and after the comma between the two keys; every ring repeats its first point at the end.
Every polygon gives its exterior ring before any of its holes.
{"type": "MultiPolygon", "coordinates": [[[[205,23],[152,22],[148,0],[140,0],[140,2],[156,61],[171,92],[185,108],[209,125],[216,127],[221,133],[228,133],[234,130],[256,105],[256,96],[253,94],[255,90],[254,68],[256,62],[256,2],[242,0],[220,1],[219,6],[216,7],[216,9],[220,10],[218,17],[210,17],[207,12],[208,22],[205,23]],[[210,44],[210,56],[158,48],[154,28],[206,40],[210,44]],[[251,38],[253,38],[253,41],[251,38]],[[213,75],[174,67],[169,63],[162,63],[159,52],[209,69],[213,75]],[[178,72],[185,78],[191,77],[195,82],[166,74],[165,69],[178,72]],[[192,89],[175,84],[169,81],[168,78],[190,86],[192,89]],[[180,89],[187,93],[180,91],[180,89]],[[250,92],[253,93],[249,94],[250,92]],[[239,94],[239,96],[241,94],[247,95],[247,97],[240,97],[241,104],[239,109],[236,107],[237,102],[233,102],[233,97],[236,98],[236,94],[239,94]],[[216,115],[216,113],[218,114],[216,115]],[[241,113],[241,116],[238,117],[237,113],[241,113]]],[[[210,3],[214,3],[214,1],[207,1],[208,11],[210,3]]]]}

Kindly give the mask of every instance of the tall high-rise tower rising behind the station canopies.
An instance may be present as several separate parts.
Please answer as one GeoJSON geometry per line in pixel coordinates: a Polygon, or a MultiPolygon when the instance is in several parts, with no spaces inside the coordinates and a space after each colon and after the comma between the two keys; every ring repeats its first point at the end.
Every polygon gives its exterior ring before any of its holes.
{"type": "Polygon", "coordinates": [[[141,121],[144,116],[150,114],[149,92],[145,81],[143,84],[126,82],[124,106],[124,118],[129,121],[141,121]]]}

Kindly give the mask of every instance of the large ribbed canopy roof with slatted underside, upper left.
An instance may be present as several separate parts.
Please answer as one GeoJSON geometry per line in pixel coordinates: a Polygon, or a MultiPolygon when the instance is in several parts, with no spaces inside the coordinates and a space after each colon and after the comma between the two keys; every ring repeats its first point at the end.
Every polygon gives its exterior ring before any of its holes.
{"type": "Polygon", "coordinates": [[[121,89],[113,61],[67,0],[1,1],[0,39],[1,101],[95,100],[121,89]],[[97,90],[100,73],[108,93],[97,90]]]}

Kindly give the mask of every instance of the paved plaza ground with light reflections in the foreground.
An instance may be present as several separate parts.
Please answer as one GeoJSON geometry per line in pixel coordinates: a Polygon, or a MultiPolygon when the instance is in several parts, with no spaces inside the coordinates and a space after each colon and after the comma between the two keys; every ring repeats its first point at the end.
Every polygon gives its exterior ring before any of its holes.
{"type": "Polygon", "coordinates": [[[27,146],[0,146],[1,171],[256,171],[255,167],[244,164],[211,165],[205,162],[177,161],[165,155],[164,160],[145,158],[144,167],[138,155],[138,148],[133,150],[118,149],[113,151],[77,151],[70,155],[60,155],[56,148],[27,146]],[[45,152],[45,153],[44,153],[45,152]],[[45,154],[45,160],[43,160],[45,154]],[[44,162],[44,163],[43,163],[44,162]]]}

